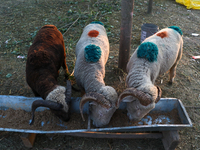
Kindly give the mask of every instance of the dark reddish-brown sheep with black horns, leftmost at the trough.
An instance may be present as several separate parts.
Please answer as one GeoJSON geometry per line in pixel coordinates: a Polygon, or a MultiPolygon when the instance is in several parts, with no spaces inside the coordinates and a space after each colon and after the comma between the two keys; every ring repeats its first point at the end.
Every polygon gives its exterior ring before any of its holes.
{"type": "Polygon", "coordinates": [[[54,25],[45,25],[37,33],[30,46],[26,62],[26,81],[36,97],[32,103],[32,121],[37,107],[48,107],[63,121],[70,118],[71,82],[67,87],[57,83],[60,67],[69,75],[66,65],[65,45],[61,32],[54,25]]]}

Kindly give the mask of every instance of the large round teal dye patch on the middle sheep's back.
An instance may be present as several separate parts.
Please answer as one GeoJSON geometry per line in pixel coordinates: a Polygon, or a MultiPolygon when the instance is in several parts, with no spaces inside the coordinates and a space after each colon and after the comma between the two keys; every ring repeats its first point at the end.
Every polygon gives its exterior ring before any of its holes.
{"type": "Polygon", "coordinates": [[[87,62],[97,62],[101,57],[101,48],[93,44],[87,45],[84,54],[87,62]]]}

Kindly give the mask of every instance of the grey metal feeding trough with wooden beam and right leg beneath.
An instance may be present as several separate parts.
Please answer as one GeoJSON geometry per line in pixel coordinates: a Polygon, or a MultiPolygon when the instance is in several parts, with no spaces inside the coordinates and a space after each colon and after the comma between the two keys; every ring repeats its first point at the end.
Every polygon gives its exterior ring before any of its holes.
{"type": "MultiPolygon", "coordinates": [[[[31,111],[31,104],[33,101],[42,99],[38,97],[24,97],[24,96],[0,96],[0,110],[7,110],[12,108],[15,110],[22,109],[27,112],[31,111]]],[[[79,102],[80,97],[72,98],[71,110],[75,113],[80,113],[79,102]]],[[[84,105],[83,113],[88,113],[88,104],[84,105]]],[[[39,107],[36,111],[44,111],[47,108],[39,107]]],[[[121,103],[120,110],[126,109],[126,104],[121,103]]],[[[88,115],[88,127],[86,129],[74,129],[74,130],[31,130],[31,129],[14,129],[14,128],[2,128],[0,131],[21,132],[21,133],[34,133],[34,134],[50,134],[50,133],[64,133],[72,136],[82,137],[94,137],[94,138],[162,138],[165,149],[176,147],[179,142],[178,130],[182,130],[185,127],[192,127],[192,122],[186,112],[182,102],[176,98],[161,98],[156,104],[156,107],[149,113],[159,112],[160,114],[171,112],[176,110],[180,118],[178,124],[152,124],[147,123],[145,125],[134,126],[120,126],[120,127],[104,127],[94,128],[91,127],[91,120],[88,115]],[[160,133],[138,133],[138,132],[160,132],[160,133]],[[134,133],[135,132],[135,133],[134,133]]],[[[0,114],[1,115],[1,114],[0,114]]],[[[147,116],[148,117],[148,116],[147,116]]],[[[30,118],[31,119],[31,118],[30,118]]],[[[28,123],[28,121],[27,121],[28,123]]]]}

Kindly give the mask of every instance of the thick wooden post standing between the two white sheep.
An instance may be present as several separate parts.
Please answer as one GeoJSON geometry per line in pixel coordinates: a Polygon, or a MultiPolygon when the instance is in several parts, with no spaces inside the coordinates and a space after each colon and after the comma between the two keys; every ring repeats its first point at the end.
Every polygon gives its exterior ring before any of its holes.
{"type": "Polygon", "coordinates": [[[126,72],[126,65],[130,55],[132,21],[134,0],[122,0],[121,2],[121,28],[118,68],[126,72]]]}

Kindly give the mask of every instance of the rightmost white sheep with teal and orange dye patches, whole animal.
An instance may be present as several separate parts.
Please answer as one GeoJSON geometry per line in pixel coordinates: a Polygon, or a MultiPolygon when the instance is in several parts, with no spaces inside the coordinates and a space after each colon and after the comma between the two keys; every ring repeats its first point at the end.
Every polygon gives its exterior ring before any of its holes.
{"type": "Polygon", "coordinates": [[[127,116],[131,121],[141,120],[160,100],[162,91],[154,85],[159,75],[169,71],[169,83],[174,82],[182,49],[182,31],[171,26],[145,39],[132,54],[127,64],[128,88],[118,100],[127,103],[127,116]]]}

